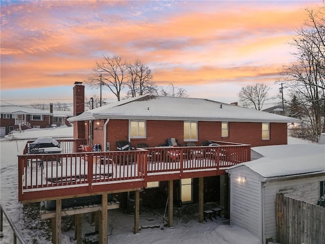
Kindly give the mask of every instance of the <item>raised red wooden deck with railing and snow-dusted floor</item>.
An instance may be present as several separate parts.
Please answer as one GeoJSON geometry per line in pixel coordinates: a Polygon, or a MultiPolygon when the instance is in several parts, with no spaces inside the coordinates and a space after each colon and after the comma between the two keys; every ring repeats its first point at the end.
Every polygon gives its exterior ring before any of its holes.
{"type": "Polygon", "coordinates": [[[38,202],[69,196],[126,192],[147,182],[225,174],[250,160],[250,145],[150,147],[131,151],[75,153],[80,140],[60,141],[61,154],[18,156],[18,197],[38,202]]]}

